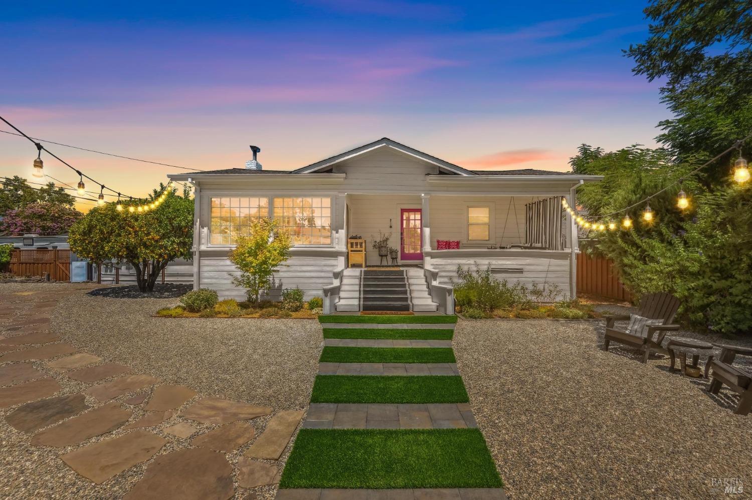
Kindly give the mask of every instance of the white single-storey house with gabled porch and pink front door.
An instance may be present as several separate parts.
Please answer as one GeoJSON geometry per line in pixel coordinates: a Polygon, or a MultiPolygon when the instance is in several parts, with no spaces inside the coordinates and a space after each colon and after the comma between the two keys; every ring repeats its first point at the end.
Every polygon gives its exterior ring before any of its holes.
{"type": "Polygon", "coordinates": [[[169,176],[195,187],[194,288],[244,299],[245,291],[232,285],[238,273],[227,258],[232,235],[247,233],[253,218],[270,217],[295,243],[272,297],[297,286],[306,297],[324,297],[325,312],[390,309],[400,301],[406,306],[395,309],[453,312],[458,265],[490,266],[500,279],[556,285],[563,297],[575,297],[577,226],[561,200],[574,206],[578,185],[600,176],[466,170],[386,137],[292,171],[262,170],[259,149],[252,149],[246,168],[169,176]],[[399,270],[374,277],[348,267],[353,235],[366,240],[368,267],[390,264],[371,248],[379,231],[399,249],[399,270]],[[459,248],[439,249],[447,241],[459,248]],[[407,297],[369,298],[381,278],[406,288],[382,296],[407,297]]]}

